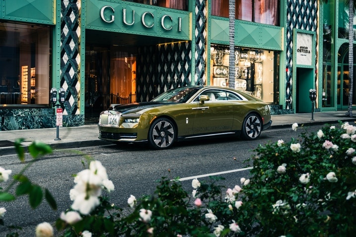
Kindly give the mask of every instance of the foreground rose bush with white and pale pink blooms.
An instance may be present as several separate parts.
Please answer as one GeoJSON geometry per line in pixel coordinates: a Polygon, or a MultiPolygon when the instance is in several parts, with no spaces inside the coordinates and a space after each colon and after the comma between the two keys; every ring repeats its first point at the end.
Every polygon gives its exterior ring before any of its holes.
{"type": "MultiPolygon", "coordinates": [[[[305,129],[294,123],[292,129],[305,129]]],[[[76,175],[73,204],[56,222],[64,237],[74,236],[353,236],[356,231],[356,126],[305,129],[298,138],[255,149],[250,177],[234,187],[218,177],[192,181],[161,178],[151,195],[128,197],[116,207],[105,196],[114,185],[105,168],[92,161],[76,175]],[[241,185],[241,186],[240,186],[241,185]]],[[[10,175],[3,169],[2,179],[10,175]]],[[[1,192],[2,193],[2,192],[1,192]]],[[[0,219],[5,216],[0,209],[0,219]]],[[[48,225],[38,227],[47,233],[48,225]]],[[[42,235],[44,236],[44,235],[42,235]]],[[[49,235],[50,236],[50,235],[49,235]]]]}

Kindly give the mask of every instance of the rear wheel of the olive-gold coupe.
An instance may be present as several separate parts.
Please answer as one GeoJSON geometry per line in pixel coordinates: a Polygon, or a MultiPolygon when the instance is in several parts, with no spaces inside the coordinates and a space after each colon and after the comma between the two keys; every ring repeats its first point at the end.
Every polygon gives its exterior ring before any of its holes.
{"type": "Polygon", "coordinates": [[[257,139],[262,130],[262,121],[256,114],[248,114],[242,123],[241,135],[246,140],[257,139]]]}

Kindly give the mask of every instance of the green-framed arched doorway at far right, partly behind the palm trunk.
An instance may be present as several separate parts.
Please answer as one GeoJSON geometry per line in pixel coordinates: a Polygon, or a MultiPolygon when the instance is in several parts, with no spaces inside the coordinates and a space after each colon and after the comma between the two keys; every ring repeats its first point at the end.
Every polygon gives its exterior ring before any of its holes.
{"type": "MultiPolygon", "coordinates": [[[[354,47],[355,51],[355,47],[354,47]]],[[[356,69],[356,57],[354,54],[354,71],[356,69]]],[[[355,74],[354,74],[355,75],[355,74]]],[[[349,77],[349,44],[345,43],[338,52],[338,74],[337,74],[337,104],[338,110],[347,111],[349,104],[350,77],[349,77]]],[[[354,80],[354,92],[356,89],[354,80]]],[[[353,96],[353,105],[356,105],[356,98],[353,96]]]]}

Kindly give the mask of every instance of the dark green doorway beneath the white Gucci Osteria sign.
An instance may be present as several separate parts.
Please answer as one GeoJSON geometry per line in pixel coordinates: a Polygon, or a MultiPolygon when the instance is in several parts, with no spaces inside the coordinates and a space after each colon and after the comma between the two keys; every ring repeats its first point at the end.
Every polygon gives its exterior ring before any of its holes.
{"type": "Polygon", "coordinates": [[[314,72],[311,68],[296,70],[296,113],[311,113],[309,90],[314,88],[314,72]]]}

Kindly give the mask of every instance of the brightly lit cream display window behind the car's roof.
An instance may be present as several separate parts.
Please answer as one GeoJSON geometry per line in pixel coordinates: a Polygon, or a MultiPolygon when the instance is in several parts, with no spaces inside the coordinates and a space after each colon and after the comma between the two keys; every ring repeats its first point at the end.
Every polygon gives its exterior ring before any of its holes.
{"type": "MultiPolygon", "coordinates": [[[[211,84],[228,86],[229,47],[212,45],[211,84]]],[[[276,103],[278,91],[275,58],[269,50],[235,48],[235,89],[267,102],[276,103]]]]}

